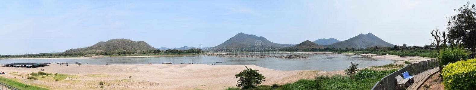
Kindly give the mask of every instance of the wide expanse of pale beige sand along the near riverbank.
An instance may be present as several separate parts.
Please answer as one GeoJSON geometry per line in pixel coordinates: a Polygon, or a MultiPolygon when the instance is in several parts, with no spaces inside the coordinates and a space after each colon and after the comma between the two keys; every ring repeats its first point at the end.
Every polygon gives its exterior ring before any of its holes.
{"type": "Polygon", "coordinates": [[[297,70],[278,71],[256,65],[207,65],[207,64],[135,64],[135,65],[59,65],[39,68],[0,67],[6,72],[1,76],[18,79],[53,90],[97,90],[104,81],[106,90],[222,90],[234,87],[234,75],[248,66],[259,70],[266,77],[264,85],[283,84],[299,79],[311,79],[318,71],[297,70]],[[27,80],[26,74],[39,72],[69,74],[72,80],[54,81],[49,79],[27,80]],[[12,72],[18,72],[12,74],[12,72]],[[20,76],[18,76],[20,75],[20,76]],[[129,78],[132,76],[132,78],[129,78]],[[23,77],[23,78],[21,78],[23,77]],[[121,81],[122,80],[122,81],[121,81]],[[109,85],[109,86],[107,86],[109,85]]]}

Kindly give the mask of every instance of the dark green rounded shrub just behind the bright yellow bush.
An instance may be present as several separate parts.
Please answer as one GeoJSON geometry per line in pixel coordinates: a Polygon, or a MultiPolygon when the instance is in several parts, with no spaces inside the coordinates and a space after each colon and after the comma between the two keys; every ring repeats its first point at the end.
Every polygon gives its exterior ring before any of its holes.
{"type": "Polygon", "coordinates": [[[440,54],[438,55],[438,60],[440,60],[441,66],[445,66],[448,63],[454,63],[466,59],[466,51],[460,48],[442,49],[440,50],[440,54]]]}

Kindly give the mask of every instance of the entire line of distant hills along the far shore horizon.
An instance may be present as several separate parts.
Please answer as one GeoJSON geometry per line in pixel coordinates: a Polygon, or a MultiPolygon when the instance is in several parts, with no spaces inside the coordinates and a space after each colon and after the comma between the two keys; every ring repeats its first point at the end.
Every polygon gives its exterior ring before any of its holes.
{"type": "MultiPolygon", "coordinates": [[[[263,36],[248,35],[245,33],[238,33],[237,35],[229,38],[227,41],[223,42],[220,45],[214,46],[212,48],[287,48],[290,50],[303,50],[311,48],[326,48],[326,47],[335,47],[335,48],[367,48],[367,47],[391,47],[393,44],[387,43],[386,41],[380,39],[379,37],[373,35],[372,33],[368,34],[359,34],[350,39],[339,41],[334,38],[328,39],[317,39],[314,42],[306,40],[298,45],[287,45],[287,44],[277,44],[269,41],[263,36]]],[[[191,48],[196,48],[193,46],[183,46],[178,48],[167,48],[160,47],[157,49],[168,50],[168,49],[178,49],[178,50],[187,50],[191,48]]],[[[200,49],[205,49],[209,47],[203,47],[200,49]]],[[[138,50],[156,50],[156,48],[150,46],[144,41],[132,41],[129,39],[111,39],[106,42],[99,42],[95,45],[85,47],[85,48],[76,48],[69,49],[65,53],[98,53],[98,52],[135,52],[138,50]]]]}

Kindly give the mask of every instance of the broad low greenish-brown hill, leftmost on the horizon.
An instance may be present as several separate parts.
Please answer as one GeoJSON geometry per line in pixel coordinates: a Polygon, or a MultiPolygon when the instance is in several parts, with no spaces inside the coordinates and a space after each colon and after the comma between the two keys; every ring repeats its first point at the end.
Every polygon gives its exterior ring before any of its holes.
{"type": "Polygon", "coordinates": [[[99,42],[95,45],[66,50],[65,53],[98,53],[98,52],[136,52],[138,50],[156,50],[144,41],[132,41],[129,39],[111,39],[99,42]]]}

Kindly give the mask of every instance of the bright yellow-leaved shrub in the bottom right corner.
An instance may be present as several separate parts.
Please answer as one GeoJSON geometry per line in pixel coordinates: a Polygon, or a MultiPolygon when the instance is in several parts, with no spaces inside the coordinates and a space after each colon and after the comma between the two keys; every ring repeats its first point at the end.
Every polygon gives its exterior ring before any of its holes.
{"type": "Polygon", "coordinates": [[[441,76],[446,90],[476,90],[476,59],[449,63],[441,76]]]}

